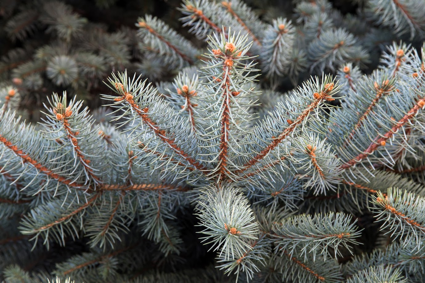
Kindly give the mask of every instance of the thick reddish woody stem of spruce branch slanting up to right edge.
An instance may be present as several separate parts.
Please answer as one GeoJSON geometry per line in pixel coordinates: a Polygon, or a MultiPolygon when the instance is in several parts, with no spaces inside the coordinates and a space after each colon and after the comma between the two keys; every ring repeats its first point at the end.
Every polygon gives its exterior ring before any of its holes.
{"type": "Polygon", "coordinates": [[[386,132],[384,135],[379,135],[375,138],[375,141],[370,144],[370,146],[363,151],[363,153],[357,155],[356,157],[352,158],[351,160],[348,160],[345,164],[341,165],[342,169],[348,169],[351,166],[354,166],[355,164],[359,163],[363,159],[367,158],[369,154],[372,154],[376,149],[378,149],[380,146],[385,146],[386,140],[391,138],[395,133],[398,132],[399,129],[401,129],[408,121],[413,118],[416,113],[419,111],[419,109],[422,109],[425,105],[425,98],[420,99],[408,112],[404,115],[403,118],[401,118],[395,126],[393,126],[388,132],[386,132]]]}

